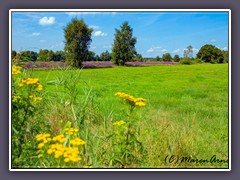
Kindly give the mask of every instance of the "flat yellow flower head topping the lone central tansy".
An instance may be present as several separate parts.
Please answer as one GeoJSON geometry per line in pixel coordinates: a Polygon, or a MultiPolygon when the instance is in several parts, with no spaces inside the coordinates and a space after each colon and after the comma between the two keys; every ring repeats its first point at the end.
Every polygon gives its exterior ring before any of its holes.
{"type": "Polygon", "coordinates": [[[115,94],[115,96],[122,98],[123,100],[129,102],[133,106],[145,106],[146,105],[146,100],[141,97],[135,98],[135,97],[128,95],[126,93],[123,93],[123,92],[117,92],[115,94]]]}

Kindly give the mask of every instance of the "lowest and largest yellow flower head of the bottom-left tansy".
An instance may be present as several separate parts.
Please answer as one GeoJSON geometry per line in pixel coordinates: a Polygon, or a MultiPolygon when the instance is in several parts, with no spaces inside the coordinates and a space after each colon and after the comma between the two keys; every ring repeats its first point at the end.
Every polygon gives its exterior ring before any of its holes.
{"type": "Polygon", "coordinates": [[[54,153],[54,157],[64,157],[64,162],[78,162],[81,160],[77,147],[65,147],[62,144],[52,144],[47,151],[48,154],[54,153]]]}

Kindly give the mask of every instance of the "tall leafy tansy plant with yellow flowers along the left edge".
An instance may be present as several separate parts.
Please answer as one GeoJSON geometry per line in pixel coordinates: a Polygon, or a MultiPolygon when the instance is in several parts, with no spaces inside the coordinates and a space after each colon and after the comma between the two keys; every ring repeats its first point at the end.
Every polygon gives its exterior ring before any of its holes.
{"type": "Polygon", "coordinates": [[[42,101],[42,90],[39,79],[26,77],[22,67],[12,66],[12,160],[16,166],[26,143],[25,137],[34,129],[33,119],[42,101]]]}

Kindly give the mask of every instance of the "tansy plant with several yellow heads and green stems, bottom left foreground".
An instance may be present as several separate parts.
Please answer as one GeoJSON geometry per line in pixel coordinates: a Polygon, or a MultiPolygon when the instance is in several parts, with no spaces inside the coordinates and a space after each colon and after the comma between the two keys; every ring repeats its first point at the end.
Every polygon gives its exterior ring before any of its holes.
{"type": "Polygon", "coordinates": [[[78,137],[78,129],[65,128],[63,134],[51,137],[38,134],[38,157],[45,167],[79,167],[86,142],[78,137]]]}

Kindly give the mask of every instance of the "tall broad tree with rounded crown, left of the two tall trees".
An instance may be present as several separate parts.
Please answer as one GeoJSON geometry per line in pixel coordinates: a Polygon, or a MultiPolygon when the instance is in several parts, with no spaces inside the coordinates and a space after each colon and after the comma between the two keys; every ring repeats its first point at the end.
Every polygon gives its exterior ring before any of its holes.
{"type": "Polygon", "coordinates": [[[81,67],[82,62],[88,57],[88,49],[92,41],[92,28],[85,22],[72,19],[64,29],[66,62],[73,67],[81,67]]]}

